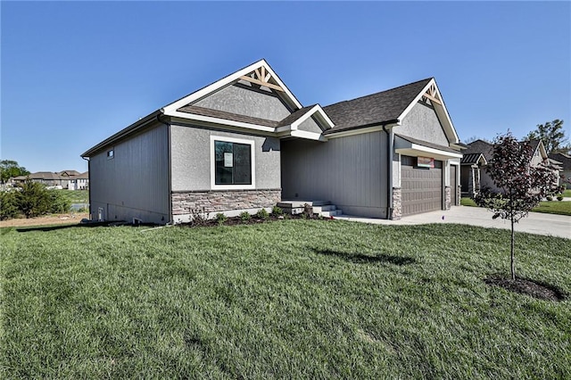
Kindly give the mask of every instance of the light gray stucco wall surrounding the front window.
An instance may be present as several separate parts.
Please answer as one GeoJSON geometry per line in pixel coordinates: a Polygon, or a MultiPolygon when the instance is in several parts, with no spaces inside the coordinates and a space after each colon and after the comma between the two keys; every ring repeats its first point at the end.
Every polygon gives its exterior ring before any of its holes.
{"type": "Polygon", "coordinates": [[[211,136],[227,136],[255,142],[255,188],[278,189],[280,142],[276,137],[251,136],[219,130],[172,125],[172,191],[211,190],[211,136]]]}

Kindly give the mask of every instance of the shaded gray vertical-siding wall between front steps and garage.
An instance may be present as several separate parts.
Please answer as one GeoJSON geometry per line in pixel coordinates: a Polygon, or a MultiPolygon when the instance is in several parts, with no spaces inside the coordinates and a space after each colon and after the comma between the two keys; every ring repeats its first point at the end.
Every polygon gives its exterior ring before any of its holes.
{"type": "Polygon", "coordinates": [[[330,201],[344,214],[386,218],[386,135],[373,132],[327,143],[282,142],[282,198],[330,201]]]}

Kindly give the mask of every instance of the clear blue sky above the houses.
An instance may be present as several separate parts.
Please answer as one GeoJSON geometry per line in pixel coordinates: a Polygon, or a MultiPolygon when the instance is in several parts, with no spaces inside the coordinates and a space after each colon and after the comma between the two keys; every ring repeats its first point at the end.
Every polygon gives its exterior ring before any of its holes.
{"type": "Polygon", "coordinates": [[[460,139],[571,126],[568,2],[6,2],[2,159],[79,154],[265,58],[304,105],[435,77],[460,139]]]}

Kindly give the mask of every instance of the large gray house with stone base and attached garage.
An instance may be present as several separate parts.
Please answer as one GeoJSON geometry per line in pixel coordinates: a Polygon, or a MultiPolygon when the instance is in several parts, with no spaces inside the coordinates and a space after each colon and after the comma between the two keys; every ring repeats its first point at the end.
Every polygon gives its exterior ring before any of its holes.
{"type": "Polygon", "coordinates": [[[277,202],[399,219],[459,203],[459,138],[434,78],[303,106],[265,60],[81,154],[92,218],[180,223],[277,202]]]}

